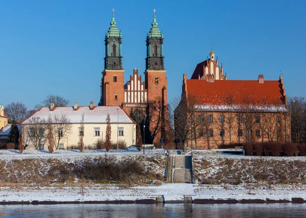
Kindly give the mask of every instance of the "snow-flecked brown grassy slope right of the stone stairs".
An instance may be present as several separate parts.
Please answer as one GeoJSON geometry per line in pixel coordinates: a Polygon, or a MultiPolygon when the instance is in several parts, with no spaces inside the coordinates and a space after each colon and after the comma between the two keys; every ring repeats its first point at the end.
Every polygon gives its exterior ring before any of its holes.
{"type": "Polygon", "coordinates": [[[245,183],[306,183],[305,157],[244,157],[194,155],[194,177],[199,182],[237,179],[245,183]]]}

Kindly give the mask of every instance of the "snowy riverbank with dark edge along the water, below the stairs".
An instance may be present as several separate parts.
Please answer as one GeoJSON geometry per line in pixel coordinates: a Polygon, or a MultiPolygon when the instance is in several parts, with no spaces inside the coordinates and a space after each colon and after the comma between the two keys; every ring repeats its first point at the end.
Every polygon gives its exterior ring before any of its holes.
{"type": "Polygon", "coordinates": [[[243,185],[162,184],[134,186],[103,184],[79,187],[1,187],[0,204],[156,204],[188,203],[306,203],[306,186],[267,188],[243,185]],[[159,197],[162,200],[157,202],[159,197]],[[189,198],[190,199],[190,198],[189,198]],[[187,202],[186,202],[187,200],[187,202]]]}

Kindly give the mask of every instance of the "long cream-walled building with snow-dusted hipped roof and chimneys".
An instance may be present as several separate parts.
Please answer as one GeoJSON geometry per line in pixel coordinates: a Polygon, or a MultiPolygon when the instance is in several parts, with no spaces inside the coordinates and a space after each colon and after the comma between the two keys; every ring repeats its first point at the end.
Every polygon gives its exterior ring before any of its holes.
{"type": "MultiPolygon", "coordinates": [[[[47,149],[48,141],[46,140],[46,124],[48,123],[49,117],[60,117],[66,116],[72,127],[70,134],[64,136],[60,139],[59,148],[67,149],[68,147],[78,146],[80,141],[80,131],[81,129],[81,119],[84,114],[84,145],[85,146],[94,146],[97,139],[100,138],[105,140],[106,127],[107,127],[107,114],[110,114],[111,119],[111,140],[117,142],[117,129],[118,129],[118,139],[125,140],[127,146],[135,144],[136,141],[136,123],[135,121],[125,113],[125,111],[120,106],[94,106],[93,103],[90,106],[78,106],[78,103],[74,103],[72,107],[54,107],[54,103],[50,104],[50,107],[42,107],[32,116],[22,122],[22,128],[27,126],[30,127],[33,125],[35,120],[43,120],[42,132],[45,132],[44,140],[41,140],[42,144],[45,144],[44,149],[47,149]],[[34,120],[34,121],[33,121],[34,120]]],[[[58,131],[58,130],[57,130],[58,131]]],[[[40,132],[40,134],[42,133],[40,132]]],[[[24,134],[27,134],[27,131],[24,131],[24,134]]],[[[35,148],[33,142],[27,135],[25,137],[25,143],[28,144],[28,148],[35,148]]]]}

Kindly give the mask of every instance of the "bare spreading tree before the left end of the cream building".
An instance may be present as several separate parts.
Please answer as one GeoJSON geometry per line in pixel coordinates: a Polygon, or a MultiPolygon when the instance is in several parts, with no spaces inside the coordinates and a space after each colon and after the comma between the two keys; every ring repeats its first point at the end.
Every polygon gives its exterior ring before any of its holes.
{"type": "Polygon", "coordinates": [[[31,146],[34,146],[36,150],[40,145],[44,145],[46,141],[45,130],[47,127],[47,121],[40,117],[30,117],[27,119],[27,123],[22,125],[25,138],[31,142],[31,146]]]}

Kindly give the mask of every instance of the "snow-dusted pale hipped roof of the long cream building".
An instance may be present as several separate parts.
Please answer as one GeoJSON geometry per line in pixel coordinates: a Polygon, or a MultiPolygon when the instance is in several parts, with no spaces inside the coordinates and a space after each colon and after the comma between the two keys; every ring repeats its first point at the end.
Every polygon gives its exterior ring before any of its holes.
{"type": "MultiPolygon", "coordinates": [[[[84,114],[84,123],[104,124],[106,123],[108,113],[110,114],[111,123],[117,123],[117,119],[118,123],[121,124],[134,123],[134,120],[119,106],[96,106],[92,110],[89,109],[89,106],[80,106],[78,110],[73,110],[73,107],[55,107],[54,110],[50,110],[49,107],[42,107],[31,117],[40,117],[41,119],[48,120],[49,116],[66,115],[72,124],[80,124],[82,114],[84,114]]],[[[29,124],[29,119],[31,117],[24,120],[22,124],[29,124]]]]}

